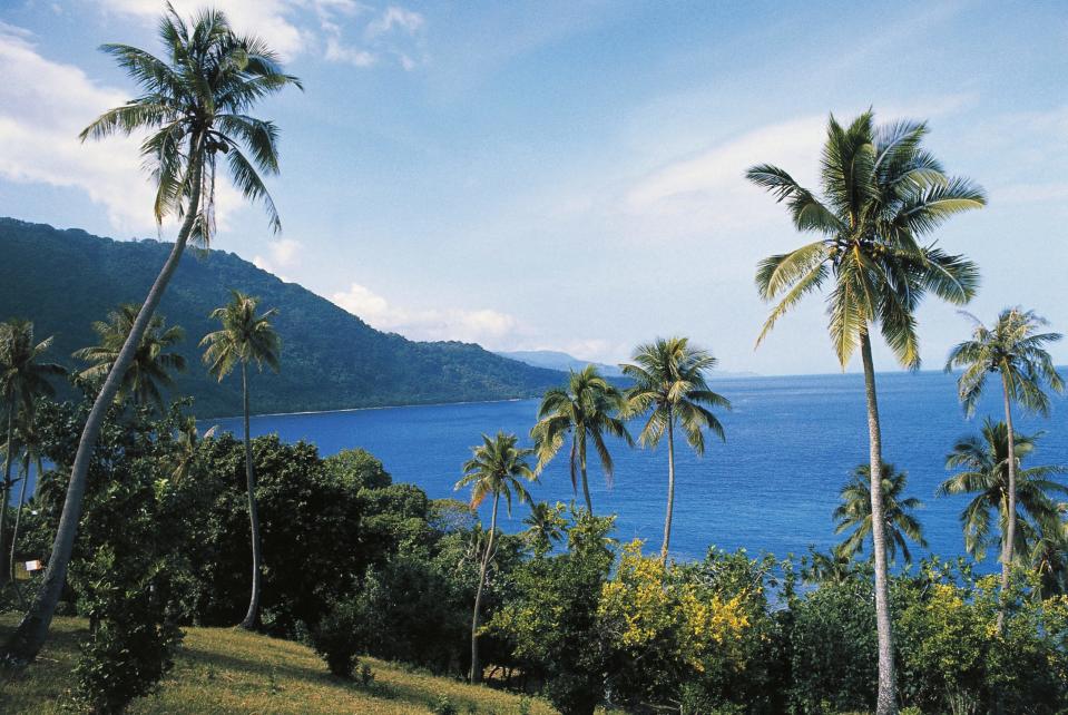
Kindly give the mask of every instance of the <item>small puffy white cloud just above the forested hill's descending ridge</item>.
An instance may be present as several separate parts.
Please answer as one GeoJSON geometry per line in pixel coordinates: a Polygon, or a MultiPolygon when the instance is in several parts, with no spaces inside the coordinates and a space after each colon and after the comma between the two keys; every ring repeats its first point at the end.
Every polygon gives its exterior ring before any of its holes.
{"type": "Polygon", "coordinates": [[[336,305],[379,330],[412,340],[459,340],[489,349],[511,347],[522,331],[519,321],[490,308],[408,308],[393,305],[371,288],[353,283],[331,296],[336,305]]]}

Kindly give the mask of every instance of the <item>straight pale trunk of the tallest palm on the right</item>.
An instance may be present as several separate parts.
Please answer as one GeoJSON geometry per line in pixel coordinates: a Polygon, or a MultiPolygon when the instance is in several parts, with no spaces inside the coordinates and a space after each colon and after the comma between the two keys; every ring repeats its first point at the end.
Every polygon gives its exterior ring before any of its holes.
{"type": "Polygon", "coordinates": [[[875,398],[875,366],[868,332],[861,335],[864,361],[864,393],[868,399],[868,437],[871,459],[872,554],[875,557],[875,627],[879,631],[879,697],[875,715],[898,712],[896,682],[893,663],[893,626],[890,621],[890,576],[886,571],[886,522],[882,493],[882,433],[879,427],[879,401],[875,398]]]}

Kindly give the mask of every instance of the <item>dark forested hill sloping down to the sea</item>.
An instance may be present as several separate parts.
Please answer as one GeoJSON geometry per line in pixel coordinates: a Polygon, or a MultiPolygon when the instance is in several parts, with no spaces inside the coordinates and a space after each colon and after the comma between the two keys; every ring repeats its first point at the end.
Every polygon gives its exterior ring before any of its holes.
{"type": "MultiPolygon", "coordinates": [[[[157,241],[119,242],[84,231],[0,218],[0,320],[32,320],[39,337],[56,335],[51,353],[96,343],[91,323],[120,303],[139,303],[170,252],[157,241]]],[[[241,411],[239,381],[217,383],[197,343],[217,324],[208,313],[237,288],[277,307],[282,372],[252,378],[255,412],[330,410],[531,396],[562,380],[459,342],[421,343],[369,326],[304,287],[283,283],[232,253],[187,254],[159,313],[186,331],[188,370],[176,392],[193,395],[198,417],[241,411]]]]}

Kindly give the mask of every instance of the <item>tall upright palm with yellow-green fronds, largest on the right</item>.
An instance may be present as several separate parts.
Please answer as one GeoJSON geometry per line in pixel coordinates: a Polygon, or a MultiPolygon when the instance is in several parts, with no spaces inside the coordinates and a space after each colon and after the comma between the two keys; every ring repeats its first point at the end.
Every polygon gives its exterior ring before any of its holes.
{"type": "MultiPolygon", "coordinates": [[[[882,473],[882,434],[875,394],[871,332],[878,326],[898,360],[920,364],[915,311],[931,291],[951,303],[967,303],[976,292],[978,270],[920,239],[953,214],[986,204],[982,189],[950,178],[922,147],[927,126],[902,121],[876,127],[871,111],[843,127],[832,116],[821,161],[822,197],[772,165],[746,176],[785,202],[797,231],[816,241],[765,258],[756,284],[765,301],[777,300],[757,339],[805,295],[832,281],[827,298],[830,333],[844,369],[860,346],[868,402],[872,473],[882,473]]],[[[896,712],[893,631],[886,572],[882,490],[872,489],[872,541],[875,559],[875,623],[879,629],[876,714],[896,712]]]]}

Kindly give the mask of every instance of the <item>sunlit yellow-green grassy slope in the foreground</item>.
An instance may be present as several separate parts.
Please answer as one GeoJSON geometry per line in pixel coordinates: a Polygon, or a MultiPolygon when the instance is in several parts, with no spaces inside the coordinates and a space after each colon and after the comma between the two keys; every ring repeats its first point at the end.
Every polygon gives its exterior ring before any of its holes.
{"type": "MultiPolygon", "coordinates": [[[[0,616],[0,638],[17,624],[0,616]]],[[[78,640],[86,621],[56,618],[48,644],[22,674],[0,683],[0,712],[71,712],[78,640]]],[[[130,713],[361,713],[408,715],[431,712],[448,697],[461,715],[517,715],[520,698],[489,687],[410,673],[394,664],[365,658],[374,670],[369,687],[335,678],[308,648],[231,628],[187,628],[175,667],[158,690],[136,701],[130,713]]],[[[535,701],[532,715],[555,711],[535,701]]]]}

